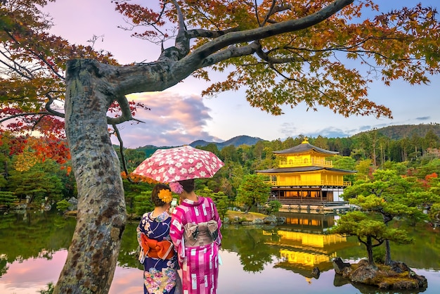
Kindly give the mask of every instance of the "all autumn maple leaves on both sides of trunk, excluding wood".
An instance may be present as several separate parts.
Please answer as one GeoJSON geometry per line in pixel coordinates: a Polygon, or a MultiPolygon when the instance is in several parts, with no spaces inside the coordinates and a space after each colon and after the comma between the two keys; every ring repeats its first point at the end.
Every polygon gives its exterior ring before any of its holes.
{"type": "MultiPolygon", "coordinates": [[[[52,1],[52,0],[51,0],[52,1]]],[[[37,131],[63,138],[65,63],[70,58],[93,58],[116,65],[111,53],[70,44],[50,34],[50,18],[38,13],[44,0],[14,0],[1,4],[0,122],[12,132],[37,131]],[[14,66],[15,65],[15,66],[14,66]]],[[[228,32],[271,27],[320,11],[332,1],[149,1],[143,5],[114,1],[115,9],[131,21],[134,37],[157,44],[176,37],[179,12],[193,49],[228,32]],[[179,4],[179,6],[176,6],[179,4]],[[200,28],[200,29],[199,29],[200,28]]],[[[392,117],[386,106],[368,100],[368,84],[404,79],[428,83],[439,72],[439,22],[436,10],[421,4],[382,12],[373,0],[356,1],[312,27],[254,41],[253,54],[208,63],[228,70],[226,79],[212,83],[202,94],[244,87],[249,103],[273,115],[282,107],[305,103],[310,110],[325,106],[335,113],[392,117]]],[[[239,42],[243,49],[252,42],[239,42]]],[[[199,68],[193,75],[209,80],[199,68]]],[[[141,103],[130,102],[132,115],[141,103]]],[[[109,115],[117,117],[114,103],[109,115]]]]}

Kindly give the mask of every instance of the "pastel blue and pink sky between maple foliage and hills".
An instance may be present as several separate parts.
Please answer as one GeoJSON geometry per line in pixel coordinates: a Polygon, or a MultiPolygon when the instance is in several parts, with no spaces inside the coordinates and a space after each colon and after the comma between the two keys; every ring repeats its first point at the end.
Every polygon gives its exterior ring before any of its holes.
{"type": "MultiPolygon", "coordinates": [[[[145,0],[143,0],[145,1],[145,0]]],[[[149,0],[150,1],[150,0],[149,0]]],[[[142,1],[138,1],[142,2],[142,1]]],[[[408,7],[421,2],[439,7],[438,0],[378,0],[384,9],[408,7]]],[[[75,44],[90,44],[93,35],[103,36],[95,49],[110,51],[121,64],[154,61],[160,46],[130,37],[131,32],[118,28],[124,18],[117,13],[111,0],[58,0],[44,11],[51,14],[53,34],[75,44]]],[[[215,74],[213,80],[221,79],[215,74]]],[[[284,115],[273,116],[252,108],[245,99],[245,90],[228,91],[205,98],[201,92],[209,84],[188,77],[162,92],[131,94],[129,99],[142,101],[151,110],[138,110],[136,119],[142,123],[124,122],[119,132],[124,147],[182,146],[196,140],[221,142],[247,135],[272,141],[299,135],[316,137],[347,137],[373,128],[389,125],[440,123],[440,76],[431,77],[427,85],[392,82],[390,87],[380,81],[370,84],[368,99],[392,110],[393,119],[365,116],[342,117],[327,108],[307,111],[299,105],[283,108],[284,115]]],[[[117,143],[115,138],[113,142],[117,143]]]]}

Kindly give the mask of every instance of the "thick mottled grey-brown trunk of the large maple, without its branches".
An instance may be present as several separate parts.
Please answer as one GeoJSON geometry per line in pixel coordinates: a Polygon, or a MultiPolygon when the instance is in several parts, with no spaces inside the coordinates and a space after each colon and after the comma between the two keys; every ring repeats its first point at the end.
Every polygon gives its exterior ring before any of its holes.
{"type": "Polygon", "coordinates": [[[108,293],[126,224],[119,159],[106,113],[115,98],[92,60],[70,60],[65,131],[78,188],[77,226],[53,293],[108,293]]]}

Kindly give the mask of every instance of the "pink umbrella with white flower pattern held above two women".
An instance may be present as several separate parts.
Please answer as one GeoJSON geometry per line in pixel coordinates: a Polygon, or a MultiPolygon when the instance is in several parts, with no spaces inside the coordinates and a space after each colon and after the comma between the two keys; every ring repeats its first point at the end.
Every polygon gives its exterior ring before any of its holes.
{"type": "Polygon", "coordinates": [[[143,160],[133,173],[169,183],[210,178],[223,166],[224,163],[212,152],[181,146],[157,149],[150,158],[143,160]]]}

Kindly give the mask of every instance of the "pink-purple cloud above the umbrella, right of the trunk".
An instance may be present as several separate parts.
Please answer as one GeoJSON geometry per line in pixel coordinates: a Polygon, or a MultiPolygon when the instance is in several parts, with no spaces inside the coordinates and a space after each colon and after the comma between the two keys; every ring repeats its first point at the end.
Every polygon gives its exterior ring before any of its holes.
{"type": "Polygon", "coordinates": [[[128,148],[181,146],[199,139],[221,141],[206,130],[207,121],[212,117],[200,96],[163,91],[134,94],[129,100],[142,102],[151,110],[138,110],[135,118],[142,122],[126,122],[119,127],[124,146],[128,148]]]}

